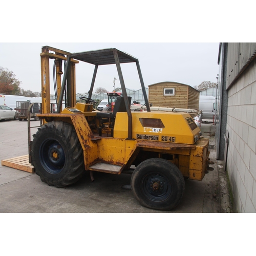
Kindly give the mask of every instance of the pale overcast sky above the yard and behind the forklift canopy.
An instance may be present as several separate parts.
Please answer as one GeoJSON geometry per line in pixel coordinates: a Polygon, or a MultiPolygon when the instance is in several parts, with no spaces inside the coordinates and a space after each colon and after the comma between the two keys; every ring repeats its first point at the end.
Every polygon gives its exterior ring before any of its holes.
{"type": "MultiPolygon", "coordinates": [[[[117,48],[139,59],[145,87],[162,81],[198,86],[203,81],[217,82],[219,42],[0,42],[0,67],[15,74],[20,88],[41,91],[40,53],[42,46],[51,46],[71,53],[117,48]]],[[[138,90],[140,80],[135,63],[121,64],[125,87],[138,90]]],[[[53,60],[50,60],[50,72],[53,60]]],[[[76,65],[76,93],[88,92],[94,65],[79,61],[76,65]]],[[[115,65],[99,66],[94,86],[107,91],[120,87],[115,65]]],[[[53,76],[50,77],[51,94],[53,76]]]]}

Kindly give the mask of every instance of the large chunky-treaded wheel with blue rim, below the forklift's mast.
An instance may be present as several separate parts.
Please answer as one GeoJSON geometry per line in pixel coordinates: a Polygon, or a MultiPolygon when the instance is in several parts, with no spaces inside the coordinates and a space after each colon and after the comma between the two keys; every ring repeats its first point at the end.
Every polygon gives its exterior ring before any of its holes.
{"type": "Polygon", "coordinates": [[[75,129],[62,121],[48,122],[38,129],[31,159],[36,174],[50,186],[71,185],[84,172],[83,151],[75,129]]]}

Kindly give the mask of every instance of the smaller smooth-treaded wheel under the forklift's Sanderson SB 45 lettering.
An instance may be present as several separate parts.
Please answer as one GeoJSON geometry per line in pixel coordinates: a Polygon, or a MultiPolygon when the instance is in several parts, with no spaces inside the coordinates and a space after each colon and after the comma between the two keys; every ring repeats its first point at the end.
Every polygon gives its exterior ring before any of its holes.
{"type": "Polygon", "coordinates": [[[165,159],[152,158],[136,167],[131,187],[141,205],[157,210],[171,210],[179,204],[185,182],[175,164],[165,159]]]}

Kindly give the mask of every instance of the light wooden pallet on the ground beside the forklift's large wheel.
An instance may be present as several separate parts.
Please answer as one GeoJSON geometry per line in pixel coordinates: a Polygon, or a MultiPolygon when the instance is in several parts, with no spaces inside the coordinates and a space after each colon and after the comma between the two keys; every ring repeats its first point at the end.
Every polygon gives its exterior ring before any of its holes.
{"type": "Polygon", "coordinates": [[[34,173],[34,166],[29,162],[29,155],[2,160],[1,164],[14,169],[24,170],[28,173],[34,173]]]}

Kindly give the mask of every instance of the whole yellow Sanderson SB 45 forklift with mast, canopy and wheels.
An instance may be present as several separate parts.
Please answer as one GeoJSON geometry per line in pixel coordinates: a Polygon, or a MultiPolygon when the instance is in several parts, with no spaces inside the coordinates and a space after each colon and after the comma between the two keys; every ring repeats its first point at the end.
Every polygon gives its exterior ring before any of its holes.
{"type": "Polygon", "coordinates": [[[137,201],[149,208],[170,210],[178,205],[184,180],[202,180],[207,173],[209,140],[188,113],[151,112],[139,60],[117,49],[69,53],[42,47],[42,126],[29,141],[30,162],[43,182],[65,187],[84,172],[132,173],[131,189],[137,201]],[[50,111],[49,61],[54,60],[57,113],[50,111]],[[75,67],[79,61],[95,65],[86,103],[76,103],[75,67]],[[132,112],[121,70],[135,62],[146,110],[132,112]],[[65,71],[62,64],[65,63],[65,71]],[[93,108],[98,66],[116,65],[122,96],[113,112],[93,108]],[[65,102],[65,108],[62,102],[65,102]]]}

